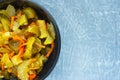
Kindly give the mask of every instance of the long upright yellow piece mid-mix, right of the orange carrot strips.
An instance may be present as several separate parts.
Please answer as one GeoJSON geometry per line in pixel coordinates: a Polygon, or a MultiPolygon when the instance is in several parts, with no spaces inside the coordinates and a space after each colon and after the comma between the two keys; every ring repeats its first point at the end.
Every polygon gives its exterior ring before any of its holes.
{"type": "Polygon", "coordinates": [[[23,54],[23,58],[31,58],[32,56],[32,46],[35,42],[35,37],[30,37],[27,40],[27,45],[26,45],[26,50],[25,53],[23,54]]]}

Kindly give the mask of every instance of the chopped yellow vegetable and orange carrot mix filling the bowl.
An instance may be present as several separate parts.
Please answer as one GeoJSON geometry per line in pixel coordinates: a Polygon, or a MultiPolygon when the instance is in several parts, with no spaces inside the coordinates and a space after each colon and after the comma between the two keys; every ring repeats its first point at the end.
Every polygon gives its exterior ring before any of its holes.
{"type": "Polygon", "coordinates": [[[54,49],[52,23],[31,7],[0,10],[0,78],[33,80],[54,49]]]}

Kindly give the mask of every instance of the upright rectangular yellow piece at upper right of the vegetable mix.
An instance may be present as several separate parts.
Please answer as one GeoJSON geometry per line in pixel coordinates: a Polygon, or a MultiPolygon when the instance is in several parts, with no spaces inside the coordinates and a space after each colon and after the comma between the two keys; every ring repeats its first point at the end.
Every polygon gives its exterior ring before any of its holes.
{"type": "Polygon", "coordinates": [[[46,38],[47,37],[47,26],[45,23],[45,20],[38,20],[37,21],[38,25],[39,25],[39,29],[40,29],[40,36],[39,38],[46,38]]]}

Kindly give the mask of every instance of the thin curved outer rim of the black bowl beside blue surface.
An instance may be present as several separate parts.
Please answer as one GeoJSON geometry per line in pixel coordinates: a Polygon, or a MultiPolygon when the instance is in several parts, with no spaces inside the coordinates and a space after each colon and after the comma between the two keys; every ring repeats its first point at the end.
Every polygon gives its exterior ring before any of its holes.
{"type": "MultiPolygon", "coordinates": [[[[1,2],[6,2],[7,4],[8,3],[11,3],[11,2],[14,2],[16,0],[1,0],[1,2]]],[[[22,0],[18,0],[18,1],[22,1],[22,0]]],[[[26,2],[29,2],[29,3],[33,3],[35,4],[37,7],[39,7],[40,9],[42,9],[50,18],[50,20],[52,21],[53,25],[54,25],[54,29],[55,31],[57,32],[56,36],[58,38],[58,42],[59,42],[59,46],[57,46],[57,55],[55,57],[55,61],[54,63],[52,64],[52,66],[50,67],[49,71],[42,77],[40,78],[40,80],[44,80],[52,71],[53,69],[55,68],[55,65],[59,59],[59,55],[60,55],[60,50],[61,50],[61,36],[60,36],[60,31],[59,31],[59,28],[58,28],[58,25],[55,21],[55,19],[53,18],[53,16],[50,14],[50,12],[48,12],[48,10],[46,10],[41,4],[38,4],[36,3],[35,1],[32,1],[32,0],[23,0],[23,1],[26,1],[26,2]]],[[[49,59],[48,59],[49,60],[49,59]]],[[[36,79],[35,79],[36,80],[36,79]]]]}

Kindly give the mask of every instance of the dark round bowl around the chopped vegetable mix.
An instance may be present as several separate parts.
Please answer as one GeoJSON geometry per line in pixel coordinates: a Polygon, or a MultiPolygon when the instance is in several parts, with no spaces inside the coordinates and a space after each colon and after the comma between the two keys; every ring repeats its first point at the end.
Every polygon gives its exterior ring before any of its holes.
{"type": "Polygon", "coordinates": [[[52,22],[54,25],[54,30],[56,34],[55,48],[53,50],[53,53],[50,55],[48,61],[44,64],[42,71],[35,78],[35,80],[43,80],[53,70],[59,57],[60,48],[61,48],[61,39],[60,39],[60,32],[59,32],[58,26],[55,20],[53,19],[53,17],[50,15],[50,13],[42,6],[38,5],[35,2],[32,2],[32,0],[31,1],[29,0],[0,0],[0,9],[6,8],[8,4],[12,4],[15,8],[22,8],[23,6],[30,6],[36,11],[39,18],[45,19],[47,22],[52,22]]]}

